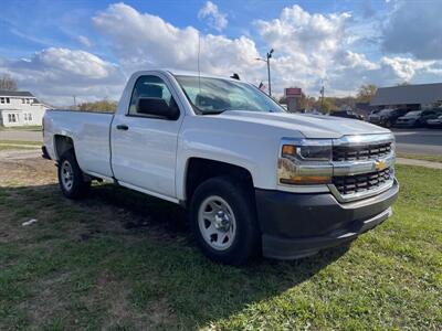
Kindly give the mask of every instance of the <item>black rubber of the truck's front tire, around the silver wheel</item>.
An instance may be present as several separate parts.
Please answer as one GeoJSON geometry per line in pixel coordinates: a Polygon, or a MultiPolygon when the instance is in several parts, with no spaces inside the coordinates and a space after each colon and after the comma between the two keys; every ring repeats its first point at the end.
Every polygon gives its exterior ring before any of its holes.
{"type": "Polygon", "coordinates": [[[212,178],[201,183],[190,202],[190,227],[201,250],[212,260],[242,265],[261,253],[261,231],[256,222],[253,192],[230,178],[212,178]],[[211,196],[220,196],[232,210],[235,218],[235,235],[227,249],[215,249],[203,237],[199,225],[202,203],[211,196]]]}

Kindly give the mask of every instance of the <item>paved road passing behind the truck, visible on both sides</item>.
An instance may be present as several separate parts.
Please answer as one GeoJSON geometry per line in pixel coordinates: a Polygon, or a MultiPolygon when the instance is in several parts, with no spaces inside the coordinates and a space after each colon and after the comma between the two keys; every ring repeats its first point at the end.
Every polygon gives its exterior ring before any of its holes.
{"type": "MultiPolygon", "coordinates": [[[[394,129],[397,150],[413,154],[441,154],[442,130],[394,129]]],[[[42,141],[40,131],[0,131],[0,140],[42,141]]]]}

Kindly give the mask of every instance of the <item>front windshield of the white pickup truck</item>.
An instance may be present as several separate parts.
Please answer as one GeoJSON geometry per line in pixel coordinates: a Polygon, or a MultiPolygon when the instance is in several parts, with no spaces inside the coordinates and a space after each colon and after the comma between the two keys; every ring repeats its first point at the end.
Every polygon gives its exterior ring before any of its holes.
{"type": "Polygon", "coordinates": [[[198,76],[176,78],[197,114],[220,114],[225,110],[284,113],[278,104],[250,84],[198,76]]]}

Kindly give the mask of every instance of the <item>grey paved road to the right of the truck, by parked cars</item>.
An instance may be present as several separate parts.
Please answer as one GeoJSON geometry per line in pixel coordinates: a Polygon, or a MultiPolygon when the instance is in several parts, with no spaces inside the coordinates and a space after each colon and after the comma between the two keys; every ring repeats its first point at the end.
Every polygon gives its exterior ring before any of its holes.
{"type": "Polygon", "coordinates": [[[442,130],[394,129],[398,152],[442,156],[442,130]]]}

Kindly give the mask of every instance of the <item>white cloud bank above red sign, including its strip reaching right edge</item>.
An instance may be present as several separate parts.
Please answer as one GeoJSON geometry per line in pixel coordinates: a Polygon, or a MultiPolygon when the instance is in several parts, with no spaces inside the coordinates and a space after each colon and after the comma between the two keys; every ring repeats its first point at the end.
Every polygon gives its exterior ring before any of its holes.
{"type": "Polygon", "coordinates": [[[387,55],[375,61],[356,52],[356,43],[376,33],[347,12],[312,14],[295,4],[285,8],[277,19],[257,21],[256,26],[269,46],[275,49],[274,77],[280,89],[297,85],[317,96],[325,81],[328,94],[344,96],[361,84],[388,86],[425,74],[434,79],[441,71],[440,62],[387,55]]]}

